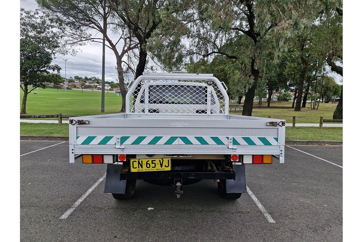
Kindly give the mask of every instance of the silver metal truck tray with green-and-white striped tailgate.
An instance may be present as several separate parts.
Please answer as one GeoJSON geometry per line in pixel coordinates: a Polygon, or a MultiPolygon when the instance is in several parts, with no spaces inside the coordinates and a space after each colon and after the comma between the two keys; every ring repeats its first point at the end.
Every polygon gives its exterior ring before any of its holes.
{"type": "Polygon", "coordinates": [[[285,120],[230,114],[127,113],[70,120],[70,163],[77,154],[120,153],[268,154],[279,155],[284,163],[285,126],[279,124],[285,120]]]}

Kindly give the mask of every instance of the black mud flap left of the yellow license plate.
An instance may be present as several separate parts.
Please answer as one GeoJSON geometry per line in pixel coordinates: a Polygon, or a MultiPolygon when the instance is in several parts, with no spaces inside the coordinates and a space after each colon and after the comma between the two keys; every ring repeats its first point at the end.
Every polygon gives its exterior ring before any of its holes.
{"type": "Polygon", "coordinates": [[[107,174],[104,193],[125,194],[126,180],[120,181],[123,165],[107,164],[107,174]]]}

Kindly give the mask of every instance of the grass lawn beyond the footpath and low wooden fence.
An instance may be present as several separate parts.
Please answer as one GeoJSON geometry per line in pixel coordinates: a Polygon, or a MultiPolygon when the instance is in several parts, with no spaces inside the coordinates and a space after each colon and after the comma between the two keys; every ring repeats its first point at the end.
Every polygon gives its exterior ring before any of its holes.
{"type": "MultiPolygon", "coordinates": [[[[23,99],[23,91],[20,89],[20,107],[23,99]]],[[[121,97],[115,93],[105,93],[105,114],[117,113],[121,110],[121,97]]],[[[258,108],[255,102],[252,115],[257,117],[268,117],[286,119],[292,123],[292,116],[296,116],[296,123],[319,123],[320,116],[326,119],[333,118],[337,104],[321,103],[318,110],[311,110],[310,103],[301,112],[295,112],[291,108],[292,102],[272,102],[267,108],[267,102],[262,102],[258,108]]],[[[58,114],[86,116],[101,114],[101,93],[93,91],[76,91],[64,89],[39,89],[38,95],[30,93],[26,102],[27,114],[58,114]]],[[[241,114],[231,112],[231,114],[241,114]]]]}

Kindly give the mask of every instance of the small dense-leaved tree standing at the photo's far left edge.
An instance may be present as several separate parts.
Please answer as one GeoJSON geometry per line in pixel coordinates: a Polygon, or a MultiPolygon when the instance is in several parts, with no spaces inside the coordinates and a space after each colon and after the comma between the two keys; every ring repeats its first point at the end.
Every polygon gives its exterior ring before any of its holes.
{"type": "Polygon", "coordinates": [[[37,87],[45,88],[45,82],[60,81],[61,67],[52,64],[60,50],[61,33],[58,23],[39,10],[20,9],[20,87],[24,92],[20,114],[26,114],[28,94],[37,87]],[[24,86],[24,87],[23,87],[24,86]],[[29,90],[29,86],[30,90],[29,90]]]}

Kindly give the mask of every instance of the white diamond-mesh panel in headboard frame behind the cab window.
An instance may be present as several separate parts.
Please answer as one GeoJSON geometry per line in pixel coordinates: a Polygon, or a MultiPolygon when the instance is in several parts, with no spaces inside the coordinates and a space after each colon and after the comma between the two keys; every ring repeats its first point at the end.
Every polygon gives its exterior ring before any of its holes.
{"type": "Polygon", "coordinates": [[[214,81],[143,79],[130,95],[131,113],[225,114],[214,81]]]}

